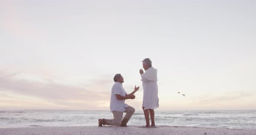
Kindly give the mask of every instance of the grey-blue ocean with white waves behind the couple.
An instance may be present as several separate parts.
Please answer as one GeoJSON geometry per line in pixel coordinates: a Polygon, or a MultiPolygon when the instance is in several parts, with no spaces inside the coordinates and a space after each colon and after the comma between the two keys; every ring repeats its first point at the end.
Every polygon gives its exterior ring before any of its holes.
{"type": "MultiPolygon", "coordinates": [[[[98,126],[98,119],[101,118],[112,119],[113,116],[110,111],[0,111],[0,128],[98,126]]],[[[156,126],[256,129],[256,110],[158,111],[156,109],[155,123],[156,126]]],[[[143,112],[135,111],[128,125],[145,125],[143,112]]]]}

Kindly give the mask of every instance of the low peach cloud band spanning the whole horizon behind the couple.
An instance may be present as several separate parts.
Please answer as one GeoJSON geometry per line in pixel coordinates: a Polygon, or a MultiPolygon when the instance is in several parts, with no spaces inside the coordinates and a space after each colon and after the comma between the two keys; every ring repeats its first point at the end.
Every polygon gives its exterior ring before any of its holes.
{"type": "MultiPolygon", "coordinates": [[[[56,83],[54,80],[45,80],[43,77],[34,79],[36,75],[25,76],[23,72],[0,71],[0,106],[2,108],[109,109],[111,87],[114,83],[111,75],[102,76],[101,79],[91,79],[82,84],[82,87],[56,83]],[[20,74],[23,75],[20,76],[20,74]]],[[[134,89],[130,84],[124,84],[123,87],[127,93],[134,89]]],[[[135,93],[136,99],[127,100],[126,103],[140,110],[142,92],[141,87],[135,93]]],[[[161,92],[164,91],[161,89],[161,92]]],[[[252,90],[223,91],[218,94],[185,97],[179,94],[172,97],[159,95],[160,110],[255,109],[254,95],[252,90]]]]}

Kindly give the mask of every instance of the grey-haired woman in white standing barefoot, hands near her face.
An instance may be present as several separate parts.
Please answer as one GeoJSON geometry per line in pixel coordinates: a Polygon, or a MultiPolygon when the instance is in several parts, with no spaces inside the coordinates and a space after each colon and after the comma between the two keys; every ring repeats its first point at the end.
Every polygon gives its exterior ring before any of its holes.
{"type": "Polygon", "coordinates": [[[158,99],[158,77],[157,69],[152,67],[152,62],[149,58],[145,58],[143,61],[143,68],[140,69],[142,86],[143,86],[143,103],[142,109],[144,110],[144,116],[146,119],[146,127],[155,126],[154,124],[154,109],[159,107],[158,99]],[[151,125],[149,123],[149,115],[151,118],[151,125]]]}

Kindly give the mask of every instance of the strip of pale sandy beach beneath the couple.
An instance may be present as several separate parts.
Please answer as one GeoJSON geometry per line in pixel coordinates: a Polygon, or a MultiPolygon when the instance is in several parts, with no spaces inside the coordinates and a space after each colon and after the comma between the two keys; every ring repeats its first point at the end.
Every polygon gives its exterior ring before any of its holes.
{"type": "Polygon", "coordinates": [[[256,130],[157,126],[2,128],[0,135],[256,135],[256,130]]]}

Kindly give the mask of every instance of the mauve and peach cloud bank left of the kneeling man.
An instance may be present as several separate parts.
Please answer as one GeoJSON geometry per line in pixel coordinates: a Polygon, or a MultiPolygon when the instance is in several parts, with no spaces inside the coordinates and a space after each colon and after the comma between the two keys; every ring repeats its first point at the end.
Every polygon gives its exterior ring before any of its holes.
{"type": "Polygon", "coordinates": [[[44,104],[52,104],[58,106],[57,108],[65,109],[107,109],[109,104],[110,95],[108,87],[100,87],[98,82],[91,83],[89,89],[82,87],[69,86],[64,84],[57,84],[53,81],[29,81],[21,78],[16,78],[19,73],[6,74],[0,72],[0,91],[8,92],[10,99],[4,99],[3,95],[0,96],[3,103],[13,106],[15,103],[20,104],[19,100],[28,102],[27,99],[32,100],[31,103],[26,105],[33,105],[41,99],[41,108],[44,104]],[[97,90],[100,89],[100,90],[97,90]],[[25,98],[24,98],[25,97],[25,98]],[[100,106],[99,106],[100,105],[100,106]],[[79,107],[80,106],[80,107],[79,107]]]}

